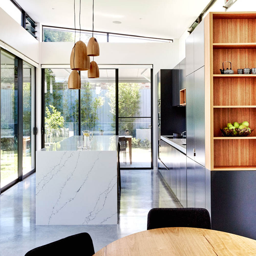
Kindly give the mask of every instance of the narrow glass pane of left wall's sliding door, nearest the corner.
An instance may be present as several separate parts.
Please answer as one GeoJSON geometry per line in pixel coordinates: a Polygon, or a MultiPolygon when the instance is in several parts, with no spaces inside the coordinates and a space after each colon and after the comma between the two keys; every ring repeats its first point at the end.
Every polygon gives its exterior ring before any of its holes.
{"type": "Polygon", "coordinates": [[[35,168],[35,68],[23,62],[23,175],[35,168]],[[33,110],[33,111],[32,111],[33,110]]]}

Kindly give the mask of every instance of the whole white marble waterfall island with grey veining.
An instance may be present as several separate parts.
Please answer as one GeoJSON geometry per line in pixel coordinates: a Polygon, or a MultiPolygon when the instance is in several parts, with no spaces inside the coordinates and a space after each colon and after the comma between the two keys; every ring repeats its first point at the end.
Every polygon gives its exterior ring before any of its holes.
{"type": "Polygon", "coordinates": [[[36,152],[36,225],[117,224],[118,136],[72,136],[36,152]]]}

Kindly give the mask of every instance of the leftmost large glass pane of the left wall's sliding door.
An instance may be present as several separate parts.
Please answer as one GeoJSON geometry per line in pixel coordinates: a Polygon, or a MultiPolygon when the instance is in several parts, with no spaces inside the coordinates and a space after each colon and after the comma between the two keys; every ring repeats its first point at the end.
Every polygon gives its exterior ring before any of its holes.
{"type": "Polygon", "coordinates": [[[18,177],[18,60],[1,50],[1,183],[18,177]]]}

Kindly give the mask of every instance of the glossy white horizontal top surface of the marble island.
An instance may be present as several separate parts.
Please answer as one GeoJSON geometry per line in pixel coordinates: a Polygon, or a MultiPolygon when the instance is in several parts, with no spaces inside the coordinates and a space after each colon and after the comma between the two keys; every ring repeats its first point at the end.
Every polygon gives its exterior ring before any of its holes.
{"type": "Polygon", "coordinates": [[[87,149],[78,149],[78,140],[83,140],[83,136],[66,138],[39,151],[117,151],[118,136],[116,135],[95,135],[91,141],[90,148],[87,149]]]}

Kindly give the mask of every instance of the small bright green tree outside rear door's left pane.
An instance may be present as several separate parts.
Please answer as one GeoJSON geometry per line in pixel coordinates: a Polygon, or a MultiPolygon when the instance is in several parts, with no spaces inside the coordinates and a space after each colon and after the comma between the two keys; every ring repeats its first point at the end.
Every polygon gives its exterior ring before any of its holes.
{"type": "Polygon", "coordinates": [[[46,106],[46,111],[45,111],[45,130],[47,134],[50,134],[51,132],[54,134],[54,141],[55,141],[55,135],[56,132],[61,131],[61,128],[64,127],[64,118],[61,115],[57,109],[49,105],[51,108],[51,111],[49,108],[46,106]]]}

